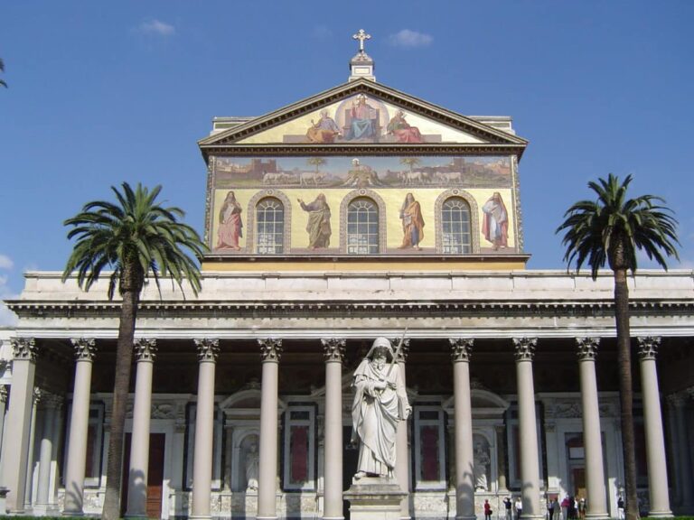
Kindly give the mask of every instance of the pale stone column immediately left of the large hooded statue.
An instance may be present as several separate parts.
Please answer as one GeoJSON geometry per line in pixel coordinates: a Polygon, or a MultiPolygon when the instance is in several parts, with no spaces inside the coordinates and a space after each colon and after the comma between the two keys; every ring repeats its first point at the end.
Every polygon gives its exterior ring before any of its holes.
{"type": "Polygon", "coordinates": [[[344,339],[321,339],[325,351],[323,517],[342,519],[342,358],[344,339]]]}

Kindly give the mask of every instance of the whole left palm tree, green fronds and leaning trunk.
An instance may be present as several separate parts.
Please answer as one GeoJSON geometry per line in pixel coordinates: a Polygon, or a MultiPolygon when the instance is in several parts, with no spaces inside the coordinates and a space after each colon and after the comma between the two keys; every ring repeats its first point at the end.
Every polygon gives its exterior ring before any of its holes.
{"type": "Polygon", "coordinates": [[[192,292],[201,288],[200,270],[190,255],[202,258],[205,246],[197,232],[183,224],[183,210],[164,208],[156,197],[161,186],[148,190],[137,184],[133,190],[127,182],[123,190],[111,187],[117,203],[102,200],[88,202],[75,217],[65,220],[71,226],[68,239],[77,238],[62,274],[63,282],[73,271],[85,291],[95,283],[105,268],[109,277],[108,298],[118,288],[123,302],[120,307],[116,351],[116,377],[113,387],[111,435],[108,443],[106,497],[102,518],[119,516],[121,462],[123,460],[124,426],[137,305],[145,279],[152,275],[157,288],[161,276],[170,276],[183,291],[187,281],[192,292]]]}

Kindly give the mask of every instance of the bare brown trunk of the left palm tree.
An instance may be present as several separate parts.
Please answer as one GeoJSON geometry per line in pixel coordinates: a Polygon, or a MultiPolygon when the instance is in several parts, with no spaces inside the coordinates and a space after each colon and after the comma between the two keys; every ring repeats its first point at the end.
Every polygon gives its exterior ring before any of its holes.
{"type": "Polygon", "coordinates": [[[113,408],[111,411],[111,434],[108,441],[108,466],[106,469],[106,496],[101,518],[117,520],[120,517],[120,485],[123,467],[123,441],[127,412],[127,395],[130,390],[130,369],[133,362],[135,320],[140,290],[123,292],[118,326],[116,350],[116,379],[113,385],[113,408]]]}

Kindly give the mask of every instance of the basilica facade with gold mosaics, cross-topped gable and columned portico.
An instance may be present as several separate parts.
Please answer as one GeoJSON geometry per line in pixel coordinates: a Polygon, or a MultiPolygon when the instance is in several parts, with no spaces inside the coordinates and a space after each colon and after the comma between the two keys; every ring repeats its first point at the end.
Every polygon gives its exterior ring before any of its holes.
{"type": "MultiPolygon", "coordinates": [[[[532,271],[507,116],[462,116],[349,80],[255,118],[217,117],[202,291],[145,286],[123,514],[345,518],[352,373],[376,338],[412,414],[402,518],[539,518],[558,497],[616,517],[624,470],[613,279],[532,271]]],[[[201,203],[202,202],[201,196],[201,203]]],[[[25,275],[0,330],[11,513],[98,515],[119,304],[25,275]]],[[[694,274],[630,279],[640,508],[694,513],[694,274]]]]}

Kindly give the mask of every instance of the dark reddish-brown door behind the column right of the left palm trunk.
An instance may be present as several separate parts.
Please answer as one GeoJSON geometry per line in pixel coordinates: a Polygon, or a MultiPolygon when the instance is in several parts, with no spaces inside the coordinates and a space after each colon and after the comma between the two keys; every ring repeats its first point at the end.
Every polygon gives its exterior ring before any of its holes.
{"type": "MultiPolygon", "coordinates": [[[[164,496],[164,445],[165,433],[149,434],[149,462],[147,464],[147,517],[162,517],[162,498],[164,496]]],[[[123,483],[120,497],[120,515],[126,515],[127,509],[127,476],[130,473],[130,447],[132,434],[126,433],[123,446],[123,483]]]]}

